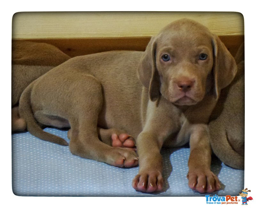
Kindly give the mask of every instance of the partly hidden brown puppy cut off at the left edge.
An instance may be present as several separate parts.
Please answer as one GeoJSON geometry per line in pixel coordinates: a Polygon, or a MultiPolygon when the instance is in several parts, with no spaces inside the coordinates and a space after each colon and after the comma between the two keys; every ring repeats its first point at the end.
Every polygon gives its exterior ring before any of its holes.
{"type": "Polygon", "coordinates": [[[23,90],[69,58],[60,49],[47,43],[12,40],[12,132],[27,128],[19,115],[19,100],[23,90]]]}

